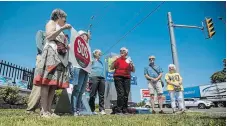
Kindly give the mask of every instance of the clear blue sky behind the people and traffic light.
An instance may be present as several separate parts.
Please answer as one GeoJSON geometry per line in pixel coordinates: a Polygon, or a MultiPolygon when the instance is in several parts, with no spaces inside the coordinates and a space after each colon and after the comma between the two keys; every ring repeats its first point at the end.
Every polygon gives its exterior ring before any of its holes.
{"type": "MultiPolygon", "coordinates": [[[[32,68],[35,66],[35,34],[44,30],[53,9],[61,8],[67,21],[76,30],[93,23],[91,48],[104,52],[160,2],[0,2],[0,59],[32,68]],[[108,5],[108,6],[107,6],[108,5]],[[107,6],[105,8],[105,6],[107,6]],[[142,9],[142,12],[137,13],[142,9]],[[97,16],[91,20],[92,15],[97,16]],[[127,25],[126,25],[127,24],[127,25]]],[[[226,57],[226,26],[218,16],[226,19],[225,2],[166,2],[138,26],[111,52],[129,49],[136,66],[138,85],[132,86],[133,101],[140,100],[140,88],[147,88],[143,75],[148,56],[155,55],[164,73],[172,63],[167,12],[172,12],[176,24],[201,25],[205,17],[213,18],[216,34],[205,39],[198,29],[175,29],[180,73],[184,86],[210,83],[210,76],[223,68],[226,57]]]]}

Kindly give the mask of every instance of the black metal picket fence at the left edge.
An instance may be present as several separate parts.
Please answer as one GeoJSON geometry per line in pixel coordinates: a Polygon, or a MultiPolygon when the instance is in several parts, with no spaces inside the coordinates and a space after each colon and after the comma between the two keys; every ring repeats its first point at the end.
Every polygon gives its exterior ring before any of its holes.
{"type": "Polygon", "coordinates": [[[34,70],[35,68],[28,69],[3,60],[0,61],[0,75],[12,78],[13,84],[16,83],[16,79],[28,81],[27,89],[32,89],[34,70]]]}

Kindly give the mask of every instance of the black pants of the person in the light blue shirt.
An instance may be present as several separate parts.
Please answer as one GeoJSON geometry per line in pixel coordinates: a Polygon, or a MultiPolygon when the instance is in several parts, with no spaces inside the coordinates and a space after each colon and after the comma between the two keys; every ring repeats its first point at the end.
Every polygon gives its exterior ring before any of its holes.
{"type": "Polygon", "coordinates": [[[98,91],[99,94],[99,111],[104,110],[104,93],[105,93],[105,79],[103,77],[91,77],[91,92],[89,105],[91,111],[95,111],[95,98],[98,91]]]}

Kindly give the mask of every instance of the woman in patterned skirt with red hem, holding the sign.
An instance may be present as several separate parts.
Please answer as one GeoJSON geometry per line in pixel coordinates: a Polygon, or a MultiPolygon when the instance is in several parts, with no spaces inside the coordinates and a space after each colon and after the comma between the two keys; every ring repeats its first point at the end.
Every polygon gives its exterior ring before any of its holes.
{"type": "Polygon", "coordinates": [[[42,117],[57,115],[52,113],[51,106],[57,88],[68,88],[68,43],[63,30],[70,29],[66,24],[67,14],[61,9],[53,10],[46,24],[46,39],[42,58],[37,66],[33,83],[41,86],[42,117]]]}

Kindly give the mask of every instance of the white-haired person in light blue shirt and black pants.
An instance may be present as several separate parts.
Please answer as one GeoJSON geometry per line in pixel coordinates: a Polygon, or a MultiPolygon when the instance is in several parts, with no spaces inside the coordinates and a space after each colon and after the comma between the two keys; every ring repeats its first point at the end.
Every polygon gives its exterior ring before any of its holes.
{"type": "Polygon", "coordinates": [[[92,61],[92,68],[90,82],[91,82],[91,92],[90,92],[90,100],[89,105],[92,111],[92,114],[96,115],[95,112],[95,98],[98,92],[99,95],[99,112],[102,115],[105,115],[104,109],[104,93],[105,93],[105,77],[104,77],[104,66],[102,61],[100,60],[101,57],[101,50],[96,49],[93,51],[93,61],[92,61]]]}

